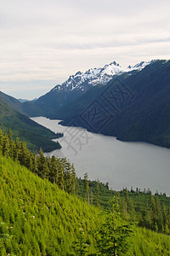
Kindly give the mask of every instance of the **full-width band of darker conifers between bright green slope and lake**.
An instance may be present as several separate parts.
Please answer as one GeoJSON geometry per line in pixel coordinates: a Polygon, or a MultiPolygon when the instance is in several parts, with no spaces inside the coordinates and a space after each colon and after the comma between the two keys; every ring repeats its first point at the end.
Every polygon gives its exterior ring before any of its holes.
{"type": "Polygon", "coordinates": [[[56,183],[59,189],[81,195],[88,204],[107,208],[111,197],[116,195],[123,219],[137,221],[146,229],[170,234],[170,202],[165,194],[153,196],[150,190],[142,192],[139,189],[136,192],[133,189],[116,192],[109,189],[108,183],[90,182],[88,173],[84,174],[83,180],[77,179],[74,165],[66,158],[45,157],[42,148],[38,155],[31,153],[25,142],[20,142],[19,138],[13,140],[11,130],[8,133],[0,130],[0,154],[18,161],[42,179],[56,183]]]}

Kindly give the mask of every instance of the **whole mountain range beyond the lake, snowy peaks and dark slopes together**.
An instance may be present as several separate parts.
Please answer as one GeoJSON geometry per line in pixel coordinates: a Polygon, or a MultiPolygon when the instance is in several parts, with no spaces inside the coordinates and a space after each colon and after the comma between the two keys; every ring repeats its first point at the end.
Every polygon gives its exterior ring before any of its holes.
{"type": "Polygon", "coordinates": [[[123,141],[170,148],[170,61],[140,62],[122,68],[116,61],[71,75],[36,101],[0,99],[27,116],[62,119],[123,141]]]}

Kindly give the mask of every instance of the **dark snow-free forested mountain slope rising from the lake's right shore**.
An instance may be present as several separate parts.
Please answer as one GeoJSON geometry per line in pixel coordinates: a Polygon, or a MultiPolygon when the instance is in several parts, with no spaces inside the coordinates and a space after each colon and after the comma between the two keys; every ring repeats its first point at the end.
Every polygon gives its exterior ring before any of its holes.
{"type": "Polygon", "coordinates": [[[127,141],[170,148],[170,61],[153,61],[139,73],[95,86],[60,111],[62,124],[127,141]]]}

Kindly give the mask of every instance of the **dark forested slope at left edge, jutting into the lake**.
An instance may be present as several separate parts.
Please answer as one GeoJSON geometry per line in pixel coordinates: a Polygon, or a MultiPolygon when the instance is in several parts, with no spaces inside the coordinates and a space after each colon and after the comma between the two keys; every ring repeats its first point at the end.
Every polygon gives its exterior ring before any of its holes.
{"type": "Polygon", "coordinates": [[[60,137],[61,134],[55,134],[42,125],[38,125],[0,100],[0,129],[8,131],[9,128],[14,132],[14,137],[25,140],[31,150],[39,151],[40,147],[44,151],[60,148],[59,143],[54,143],[51,139],[60,137]]]}

